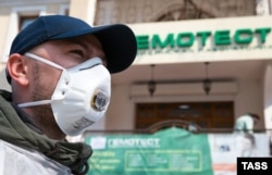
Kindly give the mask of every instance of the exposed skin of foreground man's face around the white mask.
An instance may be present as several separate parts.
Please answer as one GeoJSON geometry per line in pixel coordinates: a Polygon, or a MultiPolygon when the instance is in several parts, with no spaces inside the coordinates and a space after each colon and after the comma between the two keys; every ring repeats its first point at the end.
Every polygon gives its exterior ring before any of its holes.
{"type": "MultiPolygon", "coordinates": [[[[104,65],[107,65],[102,46],[95,36],[48,41],[29,52],[54,62],[64,68],[73,67],[94,57],[101,58],[104,65]]],[[[51,99],[62,71],[32,59],[28,62],[30,62],[28,76],[32,101],[51,99]]],[[[86,80],[91,83],[91,79],[86,80]]],[[[61,133],[50,105],[34,107],[33,113],[38,125],[44,127],[42,130],[52,129],[52,133],[61,133]]]]}

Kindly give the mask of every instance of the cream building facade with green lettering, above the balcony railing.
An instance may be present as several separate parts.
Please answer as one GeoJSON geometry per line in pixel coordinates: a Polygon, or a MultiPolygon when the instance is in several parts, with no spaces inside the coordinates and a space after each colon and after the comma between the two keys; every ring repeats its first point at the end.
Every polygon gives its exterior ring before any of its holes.
{"type": "Polygon", "coordinates": [[[0,82],[13,37],[38,15],[64,14],[90,25],[125,23],[137,58],[112,75],[99,130],[147,128],[181,120],[202,128],[232,128],[247,112],[272,129],[271,0],[0,0],[0,82]]]}

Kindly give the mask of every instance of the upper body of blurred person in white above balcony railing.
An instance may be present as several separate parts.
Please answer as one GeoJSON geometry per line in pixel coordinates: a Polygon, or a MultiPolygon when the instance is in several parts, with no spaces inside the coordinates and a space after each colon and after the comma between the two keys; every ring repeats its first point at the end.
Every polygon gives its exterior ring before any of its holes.
{"type": "Polygon", "coordinates": [[[260,116],[254,113],[247,113],[235,121],[234,129],[236,133],[254,133],[254,126],[260,121],[260,116]]]}

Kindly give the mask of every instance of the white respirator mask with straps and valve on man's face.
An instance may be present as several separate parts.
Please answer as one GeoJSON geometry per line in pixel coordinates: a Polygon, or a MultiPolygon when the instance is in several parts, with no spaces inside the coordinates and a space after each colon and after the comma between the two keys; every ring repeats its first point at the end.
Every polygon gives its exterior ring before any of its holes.
{"type": "Polygon", "coordinates": [[[91,58],[66,70],[33,53],[25,55],[62,70],[62,74],[50,100],[21,103],[20,108],[50,103],[57,124],[69,136],[82,134],[104,115],[110,102],[111,76],[101,59],[91,58]]]}

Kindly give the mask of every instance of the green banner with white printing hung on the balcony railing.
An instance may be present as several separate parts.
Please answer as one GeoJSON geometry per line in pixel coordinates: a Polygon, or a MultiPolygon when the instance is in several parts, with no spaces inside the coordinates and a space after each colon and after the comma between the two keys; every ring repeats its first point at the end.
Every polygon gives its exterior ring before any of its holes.
{"type": "Polygon", "coordinates": [[[153,135],[85,137],[94,154],[88,175],[212,175],[206,134],[169,128],[153,135]]]}

